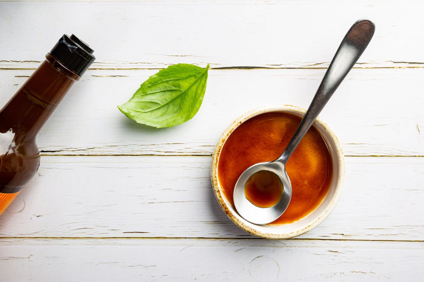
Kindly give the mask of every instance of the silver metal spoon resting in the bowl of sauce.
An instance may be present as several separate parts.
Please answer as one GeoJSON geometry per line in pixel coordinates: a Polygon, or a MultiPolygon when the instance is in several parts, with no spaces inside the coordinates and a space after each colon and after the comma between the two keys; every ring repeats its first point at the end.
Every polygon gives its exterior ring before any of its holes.
{"type": "Polygon", "coordinates": [[[374,30],[375,25],[369,19],[360,19],[352,25],[328,67],[309,109],[282,155],[273,162],[254,164],[240,175],[234,187],[234,205],[237,212],[244,219],[254,224],[267,224],[278,219],[284,213],[290,203],[292,194],[290,178],[285,170],[287,160],[335,90],[362,55],[374,35],[374,30]],[[279,176],[284,187],[279,202],[269,208],[257,207],[245,197],[244,193],[246,181],[248,181],[251,175],[260,170],[274,172],[279,176]]]}

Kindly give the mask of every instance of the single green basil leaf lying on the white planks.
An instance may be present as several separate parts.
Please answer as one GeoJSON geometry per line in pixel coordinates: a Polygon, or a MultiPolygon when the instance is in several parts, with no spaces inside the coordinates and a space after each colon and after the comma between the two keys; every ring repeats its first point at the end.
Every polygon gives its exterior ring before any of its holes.
{"type": "Polygon", "coordinates": [[[149,77],[118,109],[137,123],[157,128],[184,123],[202,104],[208,69],[209,64],[206,68],[190,64],[169,66],[149,77]]]}

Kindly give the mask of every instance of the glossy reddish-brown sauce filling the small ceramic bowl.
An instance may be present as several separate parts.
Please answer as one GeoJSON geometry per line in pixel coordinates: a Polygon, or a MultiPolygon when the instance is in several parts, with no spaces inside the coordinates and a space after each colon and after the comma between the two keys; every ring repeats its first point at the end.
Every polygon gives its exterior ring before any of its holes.
{"type": "MultiPolygon", "coordinates": [[[[300,121],[301,117],[293,113],[267,112],[246,120],[230,134],[219,156],[218,180],[233,207],[234,186],[242,172],[253,164],[279,157],[300,121]]],[[[331,186],[331,154],[314,126],[288,160],[286,170],[292,184],[292,198],[284,214],[271,225],[291,223],[307,216],[324,200],[331,186]]],[[[278,195],[271,190],[261,193],[264,191],[261,189],[246,185],[245,194],[255,205],[272,206],[278,195]]]]}

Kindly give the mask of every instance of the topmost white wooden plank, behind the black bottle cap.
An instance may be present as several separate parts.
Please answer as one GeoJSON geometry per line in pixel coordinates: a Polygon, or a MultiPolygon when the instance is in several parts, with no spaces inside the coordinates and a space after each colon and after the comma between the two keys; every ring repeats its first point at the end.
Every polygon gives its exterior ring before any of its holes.
{"type": "Polygon", "coordinates": [[[364,16],[376,22],[377,31],[360,63],[422,67],[424,62],[424,22],[417,21],[422,1],[408,1],[407,16],[401,0],[38,2],[0,3],[4,67],[42,60],[63,33],[75,33],[95,49],[96,68],[163,68],[179,62],[325,67],[349,27],[364,16]],[[73,17],[64,17],[65,11],[73,17]]]}

